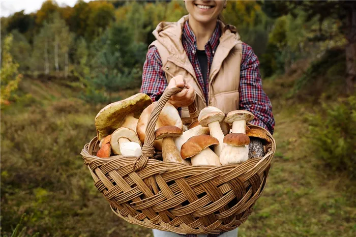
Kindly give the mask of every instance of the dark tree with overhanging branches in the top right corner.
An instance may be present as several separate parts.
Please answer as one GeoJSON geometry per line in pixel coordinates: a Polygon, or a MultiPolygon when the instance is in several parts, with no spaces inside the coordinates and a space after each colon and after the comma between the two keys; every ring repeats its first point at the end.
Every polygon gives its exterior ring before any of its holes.
{"type": "Polygon", "coordinates": [[[316,40],[328,40],[323,34],[322,23],[327,19],[335,19],[341,23],[340,32],[345,36],[346,52],[346,86],[352,93],[356,82],[356,1],[354,0],[260,0],[263,10],[271,17],[296,15],[296,10],[307,14],[307,21],[318,18],[319,34],[316,40]]]}

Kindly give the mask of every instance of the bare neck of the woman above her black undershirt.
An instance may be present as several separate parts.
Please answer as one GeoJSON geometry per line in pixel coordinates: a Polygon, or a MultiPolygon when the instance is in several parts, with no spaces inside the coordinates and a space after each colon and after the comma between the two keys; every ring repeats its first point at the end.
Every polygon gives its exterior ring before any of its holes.
{"type": "Polygon", "coordinates": [[[189,26],[192,29],[195,37],[198,50],[204,50],[204,46],[212,37],[214,29],[216,27],[216,20],[212,20],[208,23],[200,23],[194,20],[192,17],[189,18],[189,26]]]}

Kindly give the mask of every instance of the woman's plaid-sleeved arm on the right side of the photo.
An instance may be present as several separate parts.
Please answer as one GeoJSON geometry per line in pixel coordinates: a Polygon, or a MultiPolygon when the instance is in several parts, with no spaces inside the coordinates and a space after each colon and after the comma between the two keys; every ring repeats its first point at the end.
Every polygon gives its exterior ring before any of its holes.
{"type": "Polygon", "coordinates": [[[255,115],[251,124],[261,126],[273,134],[275,119],[272,104],[262,89],[259,61],[252,48],[243,43],[240,73],[240,109],[255,115]]]}

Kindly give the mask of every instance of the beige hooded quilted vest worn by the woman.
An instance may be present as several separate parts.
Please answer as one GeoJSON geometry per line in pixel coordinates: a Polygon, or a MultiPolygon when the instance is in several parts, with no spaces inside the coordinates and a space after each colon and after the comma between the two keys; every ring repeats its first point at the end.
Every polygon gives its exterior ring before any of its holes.
{"type": "MultiPolygon", "coordinates": [[[[195,105],[200,111],[206,106],[214,106],[224,113],[239,109],[240,65],[242,41],[231,25],[221,24],[222,36],[214,54],[209,75],[209,100],[206,101],[198,83],[192,64],[182,45],[182,31],[188,15],[177,22],[161,22],[153,34],[156,40],[149,46],[156,46],[162,59],[162,70],[167,82],[182,75],[195,90],[195,105]]],[[[188,107],[182,108],[182,119],[189,117],[188,107]]]]}

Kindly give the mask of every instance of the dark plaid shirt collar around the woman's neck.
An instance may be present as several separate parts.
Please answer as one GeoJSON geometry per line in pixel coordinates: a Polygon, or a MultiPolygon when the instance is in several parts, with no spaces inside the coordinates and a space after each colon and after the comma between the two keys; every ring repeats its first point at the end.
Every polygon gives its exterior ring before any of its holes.
{"type": "MultiPolygon", "coordinates": [[[[219,44],[219,39],[220,39],[220,24],[217,22],[216,27],[214,29],[213,35],[212,37],[209,39],[209,41],[207,41],[207,43],[205,44],[205,49],[206,46],[210,46],[211,49],[213,51],[216,51],[216,48],[218,47],[219,44]]],[[[196,46],[196,37],[194,35],[194,32],[192,31],[192,28],[189,26],[188,21],[186,21],[184,23],[184,27],[183,27],[183,38],[185,41],[187,41],[187,43],[189,44],[189,46],[191,46],[194,49],[194,52],[196,52],[197,50],[197,46],[196,46]]]]}

